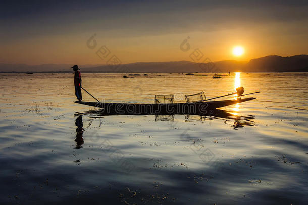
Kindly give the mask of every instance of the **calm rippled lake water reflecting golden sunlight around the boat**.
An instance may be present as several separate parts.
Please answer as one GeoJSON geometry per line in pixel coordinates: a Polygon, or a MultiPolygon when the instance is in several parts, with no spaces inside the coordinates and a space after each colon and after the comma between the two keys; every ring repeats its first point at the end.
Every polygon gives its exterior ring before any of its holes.
{"type": "Polygon", "coordinates": [[[2,73],[1,204],[307,203],[308,73],[81,74],[106,102],[261,93],[215,116],[101,116],[73,103],[73,73],[2,73]]]}

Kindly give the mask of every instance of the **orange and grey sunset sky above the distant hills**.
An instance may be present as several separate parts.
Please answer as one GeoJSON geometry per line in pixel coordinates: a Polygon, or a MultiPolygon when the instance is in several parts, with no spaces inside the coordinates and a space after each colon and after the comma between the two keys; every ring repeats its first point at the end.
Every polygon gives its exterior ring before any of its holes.
{"type": "Polygon", "coordinates": [[[95,53],[103,45],[108,58],[116,55],[122,63],[191,61],[194,49],[212,61],[308,54],[308,7],[300,1],[93,4],[42,4],[18,14],[4,7],[0,62],[105,64],[107,57],[95,53]],[[94,33],[97,45],[90,49],[94,33]],[[190,49],[182,51],[188,36],[190,49]],[[232,54],[237,45],[245,50],[240,57],[232,54]]]}

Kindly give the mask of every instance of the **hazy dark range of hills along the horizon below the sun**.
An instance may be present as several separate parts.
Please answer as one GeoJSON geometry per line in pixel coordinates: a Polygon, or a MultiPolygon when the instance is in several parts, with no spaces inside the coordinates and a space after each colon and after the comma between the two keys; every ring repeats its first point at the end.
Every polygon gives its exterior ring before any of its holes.
{"type": "MultiPolygon", "coordinates": [[[[73,64],[0,64],[0,72],[71,72],[73,64]]],[[[225,60],[208,63],[191,61],[137,62],[112,65],[79,65],[82,72],[308,72],[308,55],[265,56],[249,62],[225,60]]]]}

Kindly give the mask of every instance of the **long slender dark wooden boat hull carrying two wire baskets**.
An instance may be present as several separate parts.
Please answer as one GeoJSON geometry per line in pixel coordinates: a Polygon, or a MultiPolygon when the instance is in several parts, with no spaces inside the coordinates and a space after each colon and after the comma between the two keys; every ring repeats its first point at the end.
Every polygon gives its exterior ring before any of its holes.
{"type": "Polygon", "coordinates": [[[75,101],[75,103],[101,108],[97,110],[100,114],[126,114],[126,115],[148,115],[148,114],[211,114],[216,108],[242,103],[251,98],[238,98],[234,100],[203,101],[195,103],[96,103],[75,101]]]}

